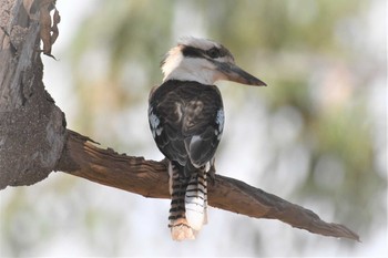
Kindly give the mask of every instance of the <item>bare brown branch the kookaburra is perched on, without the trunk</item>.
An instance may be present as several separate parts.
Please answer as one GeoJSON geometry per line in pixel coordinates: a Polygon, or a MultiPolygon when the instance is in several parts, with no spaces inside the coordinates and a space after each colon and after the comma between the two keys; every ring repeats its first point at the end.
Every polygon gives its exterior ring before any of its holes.
{"type": "MultiPolygon", "coordinates": [[[[55,169],[145,197],[170,198],[165,162],[102,149],[90,138],[69,130],[65,148],[55,169]]],[[[241,180],[216,175],[215,185],[208,185],[208,202],[213,207],[255,218],[278,219],[314,234],[359,240],[358,235],[347,227],[325,223],[312,210],[241,180]]]]}

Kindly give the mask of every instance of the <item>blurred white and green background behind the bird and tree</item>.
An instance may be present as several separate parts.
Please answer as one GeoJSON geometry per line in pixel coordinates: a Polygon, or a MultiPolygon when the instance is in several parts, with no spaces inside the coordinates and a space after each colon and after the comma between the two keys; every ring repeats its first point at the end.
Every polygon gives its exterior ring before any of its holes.
{"type": "MultiPolygon", "coordinates": [[[[254,27],[253,23],[265,22],[255,17],[261,16],[256,13],[265,17],[266,10],[255,9],[265,1],[257,2],[210,1],[206,6],[205,1],[110,4],[99,0],[59,0],[57,7],[62,20],[53,47],[59,61],[42,56],[47,90],[65,113],[69,128],[119,153],[162,159],[146,120],[147,92],[162,79],[159,62],[181,35],[219,41],[234,53],[242,68],[269,86],[263,90],[218,83],[226,124],[217,171],[309,208],[326,221],[345,224],[360,235],[363,242],[316,236],[279,221],[256,220],[214,208],[210,209],[210,224],[197,240],[174,242],[166,226],[169,200],[147,199],[58,172],[33,186],[8,187],[1,192],[1,257],[387,257],[386,2],[338,1],[334,7],[323,1],[285,4],[296,28],[309,28],[306,24],[314,24],[318,17],[331,19],[333,10],[345,10],[344,18],[338,18],[333,27],[335,43],[325,41],[326,34],[315,41],[314,37],[323,33],[318,29],[315,32],[315,27],[288,33],[288,27],[276,23],[276,19],[254,27]],[[231,7],[231,12],[222,9],[223,6],[231,7]],[[353,11],[346,10],[354,6],[360,6],[355,10],[363,11],[351,14],[353,11]],[[170,9],[171,17],[157,14],[169,13],[170,9]],[[236,18],[239,25],[215,25],[217,17],[223,16],[219,10],[224,14],[242,12],[236,18]],[[127,16],[136,17],[137,23],[130,20],[118,32],[115,28],[127,16]],[[157,34],[152,29],[162,23],[171,24],[169,34],[157,34]],[[259,31],[251,31],[251,25],[259,31]],[[237,29],[232,33],[226,29],[229,27],[237,29]],[[127,34],[130,30],[133,34],[127,34]],[[238,34],[241,30],[246,32],[238,34]],[[255,38],[256,32],[259,39],[255,38]],[[269,39],[272,43],[267,43],[269,39]],[[288,43],[282,44],[285,41],[288,43]],[[120,47],[121,42],[130,47],[120,47]],[[274,44],[279,47],[276,49],[274,44]],[[122,52],[112,58],[110,51],[119,47],[122,52]],[[298,74],[306,82],[296,79],[295,83],[294,76],[298,74]],[[298,95],[295,102],[287,97],[300,90],[292,87],[293,83],[305,85],[302,89],[306,91],[300,94],[307,94],[307,110],[329,122],[321,125],[306,118],[300,104],[305,99],[295,103],[298,95]],[[294,90],[284,92],[282,87],[288,85],[294,90]],[[358,109],[360,113],[354,114],[358,109]],[[340,117],[347,124],[336,127],[338,121],[330,117],[340,117]],[[359,127],[370,133],[365,145],[350,145],[344,152],[357,156],[358,146],[370,146],[374,173],[365,177],[349,175],[353,163],[346,162],[346,155],[340,152],[328,152],[326,148],[330,147],[325,143],[331,140],[318,133],[325,138],[320,144],[320,136],[312,136],[318,130],[308,130],[309,126],[327,126],[324,132],[335,127],[333,134],[339,133],[340,140],[359,127]],[[318,152],[318,157],[316,148],[324,149],[318,152]],[[318,161],[314,163],[314,158],[318,161]],[[364,184],[358,182],[359,177],[366,178],[364,184]],[[343,188],[348,190],[339,190],[343,188]],[[370,190],[359,194],[366,189],[370,190]]],[[[268,12],[276,12],[276,8],[268,6],[268,12]]],[[[329,21],[319,21],[317,25],[325,22],[329,21]]],[[[358,141],[363,135],[357,133],[354,137],[358,141]]],[[[360,159],[364,156],[361,153],[360,159]]]]}

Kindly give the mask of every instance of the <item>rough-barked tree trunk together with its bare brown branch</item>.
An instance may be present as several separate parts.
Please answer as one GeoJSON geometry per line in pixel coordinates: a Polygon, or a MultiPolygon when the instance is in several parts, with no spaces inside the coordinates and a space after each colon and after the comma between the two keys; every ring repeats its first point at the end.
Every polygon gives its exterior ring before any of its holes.
{"type": "MultiPolygon", "coordinates": [[[[0,189],[30,185],[51,171],[62,171],[145,197],[170,198],[165,162],[102,149],[89,137],[65,130],[63,113],[44,90],[38,51],[42,40],[43,52],[51,55],[47,44],[58,37],[59,13],[53,27],[47,17],[52,4],[52,0],[0,3],[0,189]]],[[[325,223],[308,209],[233,178],[216,175],[208,198],[221,209],[359,240],[343,225],[325,223]]]]}

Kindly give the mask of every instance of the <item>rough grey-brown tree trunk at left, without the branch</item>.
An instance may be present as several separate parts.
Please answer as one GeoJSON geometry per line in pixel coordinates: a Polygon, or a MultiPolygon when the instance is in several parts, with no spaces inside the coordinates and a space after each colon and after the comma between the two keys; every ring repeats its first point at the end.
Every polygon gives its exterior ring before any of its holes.
{"type": "MultiPolygon", "coordinates": [[[[24,1],[29,2],[29,1],[24,1]]],[[[65,121],[44,90],[41,25],[22,0],[0,6],[0,189],[45,178],[61,156],[65,121]]]]}

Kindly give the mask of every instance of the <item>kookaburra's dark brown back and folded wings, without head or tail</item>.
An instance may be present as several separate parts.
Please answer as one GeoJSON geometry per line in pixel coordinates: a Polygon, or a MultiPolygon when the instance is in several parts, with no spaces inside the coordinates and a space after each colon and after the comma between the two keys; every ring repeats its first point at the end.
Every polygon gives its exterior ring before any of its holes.
{"type": "Polygon", "coordinates": [[[223,131],[223,102],[214,85],[166,81],[150,96],[150,127],[161,152],[182,166],[213,158],[223,131]]]}

